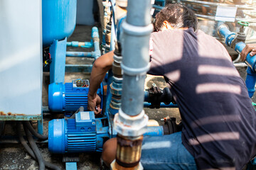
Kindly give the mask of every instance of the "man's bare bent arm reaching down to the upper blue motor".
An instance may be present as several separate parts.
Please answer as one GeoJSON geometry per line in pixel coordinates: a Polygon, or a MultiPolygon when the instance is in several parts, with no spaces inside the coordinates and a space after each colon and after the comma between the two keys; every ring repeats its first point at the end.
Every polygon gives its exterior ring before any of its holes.
{"type": "Polygon", "coordinates": [[[100,97],[97,96],[97,89],[104,79],[107,71],[112,68],[114,62],[114,52],[107,52],[105,55],[100,56],[92,66],[90,75],[90,87],[88,92],[88,110],[94,111],[99,114],[102,109],[100,108],[100,97]],[[95,107],[97,106],[97,111],[95,107]]]}

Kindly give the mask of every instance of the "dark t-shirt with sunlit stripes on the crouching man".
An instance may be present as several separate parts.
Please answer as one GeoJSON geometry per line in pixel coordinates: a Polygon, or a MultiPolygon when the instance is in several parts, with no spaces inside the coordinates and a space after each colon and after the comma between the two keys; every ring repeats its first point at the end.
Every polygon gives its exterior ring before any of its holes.
{"type": "Polygon", "coordinates": [[[152,33],[150,46],[149,74],[169,84],[198,169],[242,169],[256,154],[256,117],[225,47],[193,28],[152,33]]]}

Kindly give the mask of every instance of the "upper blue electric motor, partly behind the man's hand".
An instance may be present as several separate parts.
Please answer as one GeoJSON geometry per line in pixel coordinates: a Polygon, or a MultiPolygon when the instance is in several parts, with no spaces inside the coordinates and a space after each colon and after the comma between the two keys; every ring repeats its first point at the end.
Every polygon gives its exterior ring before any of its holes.
{"type": "MultiPolygon", "coordinates": [[[[89,91],[89,80],[76,79],[72,83],[53,83],[48,87],[48,106],[53,112],[75,112],[80,106],[87,111],[87,94],[89,91]]],[[[97,95],[103,101],[103,85],[97,90],[97,95]]],[[[101,108],[103,102],[101,102],[101,108]]]]}

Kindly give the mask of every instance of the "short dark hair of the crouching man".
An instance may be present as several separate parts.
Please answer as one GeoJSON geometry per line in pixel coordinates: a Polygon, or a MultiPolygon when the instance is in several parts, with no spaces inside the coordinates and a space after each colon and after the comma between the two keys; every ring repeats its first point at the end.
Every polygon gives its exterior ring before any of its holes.
{"type": "Polygon", "coordinates": [[[192,27],[194,30],[198,24],[195,13],[181,4],[169,4],[156,14],[155,31],[161,30],[164,21],[168,21],[174,28],[192,27]]]}

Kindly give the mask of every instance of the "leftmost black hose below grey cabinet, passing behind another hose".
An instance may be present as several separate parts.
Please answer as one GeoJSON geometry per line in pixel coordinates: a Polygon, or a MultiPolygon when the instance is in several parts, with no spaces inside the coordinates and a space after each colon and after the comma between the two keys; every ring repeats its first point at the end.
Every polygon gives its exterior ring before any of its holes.
{"type": "MultiPolygon", "coordinates": [[[[23,147],[26,149],[26,151],[28,152],[28,154],[31,155],[31,157],[33,157],[33,159],[36,159],[36,155],[34,154],[33,150],[31,149],[31,147],[28,146],[26,140],[24,140],[23,135],[21,134],[21,122],[18,121],[17,122],[17,130],[18,130],[18,138],[21,142],[21,145],[23,145],[23,147]]],[[[57,165],[55,164],[51,164],[50,162],[46,162],[44,160],[46,167],[48,167],[49,169],[54,169],[54,170],[61,170],[57,165]]]]}

